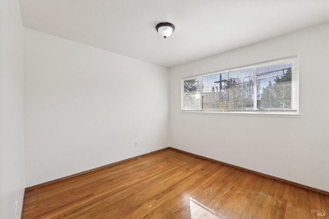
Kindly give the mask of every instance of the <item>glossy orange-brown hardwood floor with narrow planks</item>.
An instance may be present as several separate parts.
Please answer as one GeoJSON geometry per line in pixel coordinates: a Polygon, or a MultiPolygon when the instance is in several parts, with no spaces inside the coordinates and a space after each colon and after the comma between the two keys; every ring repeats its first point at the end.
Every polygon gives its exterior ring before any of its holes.
{"type": "Polygon", "coordinates": [[[23,218],[329,218],[329,196],[175,150],[26,191],[23,218]],[[325,216],[317,216],[322,212],[325,216]]]}

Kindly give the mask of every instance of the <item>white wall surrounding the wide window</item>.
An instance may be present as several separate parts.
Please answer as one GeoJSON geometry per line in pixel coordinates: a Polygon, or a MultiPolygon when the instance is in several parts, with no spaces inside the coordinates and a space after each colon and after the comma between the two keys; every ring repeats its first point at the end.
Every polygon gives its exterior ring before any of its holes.
{"type": "Polygon", "coordinates": [[[170,145],[232,165],[329,191],[329,24],[170,72],[170,145]],[[299,118],[180,113],[181,78],[299,55],[299,118]]]}

